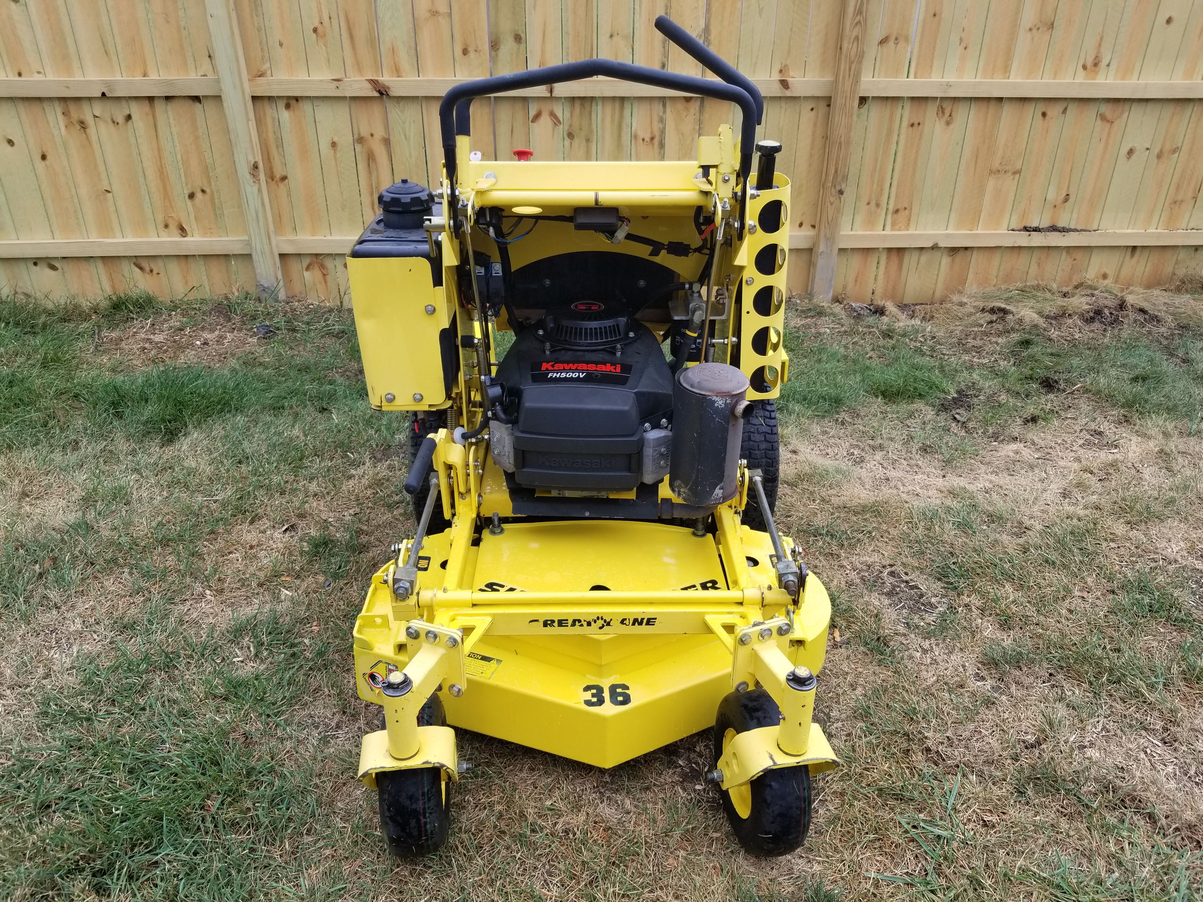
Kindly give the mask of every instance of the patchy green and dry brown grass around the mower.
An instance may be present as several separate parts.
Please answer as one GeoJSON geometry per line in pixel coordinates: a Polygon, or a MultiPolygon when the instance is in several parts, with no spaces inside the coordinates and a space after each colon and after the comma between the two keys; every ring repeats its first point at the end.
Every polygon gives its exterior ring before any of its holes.
{"type": "Polygon", "coordinates": [[[739,851],[704,736],[598,771],[461,734],[415,865],[351,778],[350,629],[411,527],[350,318],[0,301],[0,897],[1197,898],[1192,309],[792,302],[778,520],[845,761],[802,851],[739,851]]]}

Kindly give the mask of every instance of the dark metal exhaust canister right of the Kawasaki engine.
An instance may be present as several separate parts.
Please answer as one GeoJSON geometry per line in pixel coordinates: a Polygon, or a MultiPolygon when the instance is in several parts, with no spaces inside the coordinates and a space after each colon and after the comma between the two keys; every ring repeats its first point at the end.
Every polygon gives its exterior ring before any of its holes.
{"type": "Polygon", "coordinates": [[[669,486],[685,504],[717,506],[739,492],[748,378],[725,363],[699,363],[672,386],[669,486]]]}

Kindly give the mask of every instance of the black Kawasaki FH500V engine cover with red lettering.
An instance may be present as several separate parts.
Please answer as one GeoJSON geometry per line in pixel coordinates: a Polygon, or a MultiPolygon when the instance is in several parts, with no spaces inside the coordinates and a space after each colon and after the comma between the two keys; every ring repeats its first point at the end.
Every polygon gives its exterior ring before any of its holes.
{"type": "Polygon", "coordinates": [[[498,463],[520,486],[614,492],[666,473],[672,374],[660,344],[626,318],[615,342],[616,319],[589,313],[549,315],[515,339],[497,369],[508,398],[517,400],[517,421],[494,446],[509,445],[509,459],[498,463]],[[612,344],[588,349],[591,334],[603,332],[612,344]]]}

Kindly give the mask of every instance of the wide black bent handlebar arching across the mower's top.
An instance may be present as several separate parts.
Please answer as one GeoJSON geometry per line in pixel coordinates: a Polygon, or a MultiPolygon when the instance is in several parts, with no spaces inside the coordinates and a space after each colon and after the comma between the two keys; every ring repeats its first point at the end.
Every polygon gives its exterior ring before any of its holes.
{"type": "MultiPolygon", "coordinates": [[[[727,100],[739,106],[743,113],[740,136],[740,176],[747,184],[752,172],[752,149],[755,146],[757,105],[743,88],[711,78],[685,76],[678,72],[665,72],[663,69],[648,69],[632,63],[618,63],[612,59],[583,59],[576,63],[561,63],[556,66],[528,69],[525,72],[478,78],[457,84],[439,103],[439,129],[443,135],[443,161],[446,165],[448,180],[455,183],[456,174],[456,135],[472,133],[472,101],[487,94],[504,94],[522,88],[538,88],[557,82],[579,82],[582,78],[606,76],[624,82],[651,84],[657,88],[669,88],[686,94],[698,94],[703,97],[727,100]]],[[[452,210],[452,216],[455,212],[452,210]]]]}

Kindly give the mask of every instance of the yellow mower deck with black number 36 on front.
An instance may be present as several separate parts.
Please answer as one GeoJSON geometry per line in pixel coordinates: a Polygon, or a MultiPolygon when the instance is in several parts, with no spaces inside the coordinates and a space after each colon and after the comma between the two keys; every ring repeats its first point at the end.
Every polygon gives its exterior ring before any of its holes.
{"type": "MultiPolygon", "coordinates": [[[[421,595],[435,604],[434,622],[490,622],[478,641],[466,640],[466,692],[440,693],[448,722],[599,767],[712,725],[731,681],[731,648],[712,622],[751,623],[763,617],[764,601],[783,595],[768,534],[742,528],[740,538],[748,588],[733,591],[709,533],[617,521],[508,523],[499,535],[485,529],[467,550],[474,589],[446,593],[470,605],[439,610],[442,591],[426,588],[427,575],[435,584],[445,578],[452,530],[428,536],[421,595]],[[525,600],[532,594],[537,604],[525,600]]],[[[408,660],[408,621],[396,616],[387,571],[373,578],[355,631],[360,695],[368,701],[379,700],[369,680],[408,660]]],[[[778,643],[817,671],[830,605],[813,576],[799,610],[795,631],[778,643]]],[[[812,750],[829,754],[818,726],[813,734],[812,750]]]]}

